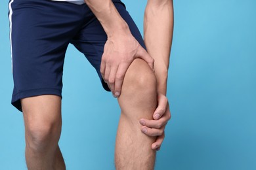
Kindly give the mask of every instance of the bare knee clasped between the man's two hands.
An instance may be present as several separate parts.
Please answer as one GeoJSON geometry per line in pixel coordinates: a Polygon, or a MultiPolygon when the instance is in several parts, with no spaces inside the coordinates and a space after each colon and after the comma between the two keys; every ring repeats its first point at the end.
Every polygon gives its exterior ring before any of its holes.
{"type": "Polygon", "coordinates": [[[156,76],[142,59],[131,63],[125,78],[121,95],[118,97],[121,112],[129,118],[151,118],[156,109],[156,76]]]}

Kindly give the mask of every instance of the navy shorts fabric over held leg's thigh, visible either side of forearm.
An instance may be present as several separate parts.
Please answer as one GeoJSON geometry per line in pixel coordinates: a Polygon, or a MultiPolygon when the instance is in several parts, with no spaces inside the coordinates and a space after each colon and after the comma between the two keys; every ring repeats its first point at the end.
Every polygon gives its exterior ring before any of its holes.
{"type": "MultiPolygon", "coordinates": [[[[142,36],[140,35],[140,31],[129,15],[129,12],[127,12],[125,9],[125,5],[119,0],[115,0],[113,2],[121,17],[129,25],[129,29],[131,30],[131,33],[135,39],[137,39],[140,45],[146,49],[142,36]]],[[[72,39],[72,44],[74,44],[74,46],[80,52],[85,54],[89,62],[93,65],[93,67],[95,67],[96,72],[98,73],[98,76],[102,82],[103,88],[107,91],[110,91],[108,85],[104,82],[100,74],[100,63],[102,54],[104,52],[104,45],[107,41],[107,35],[102,25],[100,25],[100,22],[96,19],[92,12],[91,15],[91,21],[89,24],[85,25],[81,31],[79,31],[74,39],[72,39]]]]}

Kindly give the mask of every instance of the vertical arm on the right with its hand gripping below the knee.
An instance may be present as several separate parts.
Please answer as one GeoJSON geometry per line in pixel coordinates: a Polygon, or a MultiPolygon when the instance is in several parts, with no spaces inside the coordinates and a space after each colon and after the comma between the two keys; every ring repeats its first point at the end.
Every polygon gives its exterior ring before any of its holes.
{"type": "Polygon", "coordinates": [[[171,42],[173,39],[173,1],[148,0],[144,15],[144,42],[148,53],[154,58],[154,70],[157,79],[158,107],[154,120],[141,119],[142,129],[147,128],[146,135],[158,136],[152,149],[160,149],[164,138],[164,129],[171,118],[166,97],[167,74],[171,42]]]}

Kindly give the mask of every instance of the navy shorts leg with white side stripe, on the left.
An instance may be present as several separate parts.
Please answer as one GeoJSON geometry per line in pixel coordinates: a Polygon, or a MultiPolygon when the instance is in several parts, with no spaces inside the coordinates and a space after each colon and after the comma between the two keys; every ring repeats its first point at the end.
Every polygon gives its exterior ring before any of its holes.
{"type": "Polygon", "coordinates": [[[22,98],[61,96],[64,55],[81,24],[82,7],[48,0],[10,1],[12,105],[20,111],[22,98]]]}

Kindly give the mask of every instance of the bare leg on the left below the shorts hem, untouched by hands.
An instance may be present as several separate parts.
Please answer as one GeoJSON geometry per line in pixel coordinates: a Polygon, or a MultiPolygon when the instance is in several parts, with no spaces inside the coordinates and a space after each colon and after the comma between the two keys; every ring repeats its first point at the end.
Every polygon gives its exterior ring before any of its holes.
{"type": "Polygon", "coordinates": [[[66,169],[58,140],[62,126],[61,98],[39,95],[21,100],[28,169],[66,169]]]}

